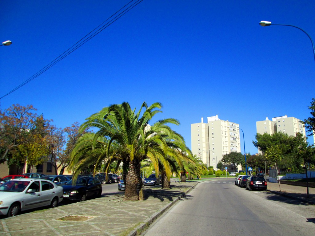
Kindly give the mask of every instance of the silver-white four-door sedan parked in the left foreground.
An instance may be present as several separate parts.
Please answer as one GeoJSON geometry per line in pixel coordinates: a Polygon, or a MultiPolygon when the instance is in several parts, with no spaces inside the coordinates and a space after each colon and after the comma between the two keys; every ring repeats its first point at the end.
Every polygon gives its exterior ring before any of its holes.
{"type": "Polygon", "coordinates": [[[49,180],[13,179],[0,185],[0,215],[10,217],[37,207],[56,207],[62,199],[62,188],[49,180]]]}

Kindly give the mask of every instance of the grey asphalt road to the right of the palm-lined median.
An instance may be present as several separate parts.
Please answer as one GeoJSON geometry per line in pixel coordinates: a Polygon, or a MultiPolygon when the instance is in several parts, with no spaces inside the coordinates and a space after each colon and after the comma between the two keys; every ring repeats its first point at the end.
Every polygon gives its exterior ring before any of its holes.
{"type": "Polygon", "coordinates": [[[314,235],[315,207],[234,185],[203,182],[142,235],[314,235]]]}

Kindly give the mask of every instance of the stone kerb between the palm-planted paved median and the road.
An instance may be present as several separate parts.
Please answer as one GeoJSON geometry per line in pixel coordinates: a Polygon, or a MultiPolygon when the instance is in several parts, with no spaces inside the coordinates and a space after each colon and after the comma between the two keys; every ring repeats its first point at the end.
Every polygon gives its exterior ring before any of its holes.
{"type": "MultiPolygon", "coordinates": [[[[201,183],[201,182],[198,182],[201,183]]],[[[185,193],[181,194],[180,196],[176,197],[176,199],[174,199],[173,201],[171,201],[169,204],[167,204],[166,206],[164,206],[162,208],[162,210],[155,212],[152,216],[146,218],[146,220],[141,223],[139,226],[137,226],[135,229],[133,229],[129,234],[127,234],[127,236],[136,236],[136,235],[140,235],[140,233],[142,233],[143,231],[145,231],[149,225],[151,225],[158,217],[160,217],[166,210],[168,210],[172,205],[174,205],[175,203],[177,203],[181,198],[185,197],[186,194],[188,194],[190,191],[192,191],[193,188],[196,187],[196,185],[198,184],[194,184],[193,186],[191,186],[190,188],[188,188],[186,190],[185,193]]]]}

